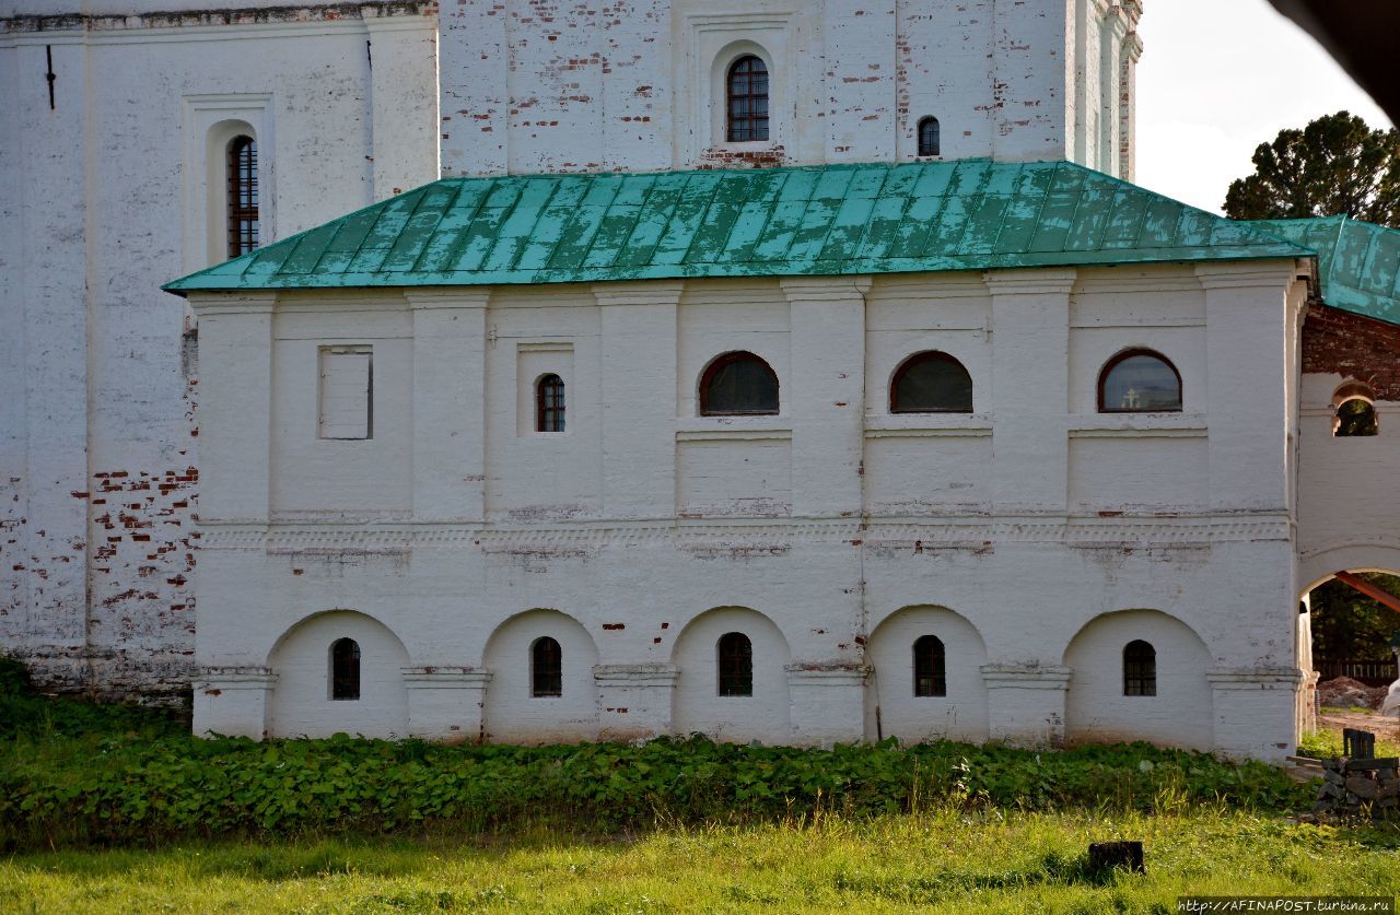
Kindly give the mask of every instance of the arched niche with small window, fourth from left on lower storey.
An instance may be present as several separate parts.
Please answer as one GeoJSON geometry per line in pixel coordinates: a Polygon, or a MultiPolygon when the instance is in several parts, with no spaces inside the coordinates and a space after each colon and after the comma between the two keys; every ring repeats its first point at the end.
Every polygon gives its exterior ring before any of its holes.
{"type": "Polygon", "coordinates": [[[987,686],[981,679],[987,646],[962,614],[937,606],[897,610],[871,632],[865,660],[874,670],[867,690],[867,737],[987,740],[987,686]],[[945,695],[916,695],[914,644],[925,635],[944,645],[945,695]]]}

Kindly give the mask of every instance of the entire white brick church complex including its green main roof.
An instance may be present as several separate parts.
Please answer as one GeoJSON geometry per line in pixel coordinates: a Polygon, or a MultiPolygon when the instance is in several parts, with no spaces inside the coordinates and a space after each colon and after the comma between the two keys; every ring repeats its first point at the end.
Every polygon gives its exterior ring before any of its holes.
{"type": "Polygon", "coordinates": [[[1385,498],[1299,508],[1396,453],[1380,369],[1301,375],[1308,302],[1393,295],[1081,168],[1131,178],[1135,3],[41,7],[0,10],[0,634],[52,681],[252,736],[1277,758],[1299,595],[1400,567],[1385,498]],[[182,304],[239,137],[263,248],[182,304]],[[396,196],[440,173],[482,178],[396,196]],[[1105,399],[1134,354],[1177,402],[1105,399]],[[1331,438],[1348,381],[1379,437],[1331,438]]]}

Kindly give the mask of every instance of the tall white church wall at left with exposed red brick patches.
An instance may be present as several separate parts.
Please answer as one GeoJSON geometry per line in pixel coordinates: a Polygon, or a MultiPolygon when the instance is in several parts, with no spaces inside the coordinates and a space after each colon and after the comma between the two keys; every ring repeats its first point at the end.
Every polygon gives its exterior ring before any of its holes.
{"type": "Polygon", "coordinates": [[[25,329],[7,334],[22,355],[0,368],[24,392],[7,399],[0,445],[0,639],[43,683],[115,697],[188,688],[197,332],[158,287],[223,259],[206,238],[220,227],[204,206],[204,132],[235,118],[258,133],[263,241],[437,175],[434,20],[323,13],[228,24],[41,4],[0,22],[0,69],[14,74],[0,88],[14,112],[0,208],[15,234],[4,250],[22,264],[3,270],[0,306],[25,329]],[[385,118],[370,130],[371,35],[379,78],[417,132],[385,118]]]}

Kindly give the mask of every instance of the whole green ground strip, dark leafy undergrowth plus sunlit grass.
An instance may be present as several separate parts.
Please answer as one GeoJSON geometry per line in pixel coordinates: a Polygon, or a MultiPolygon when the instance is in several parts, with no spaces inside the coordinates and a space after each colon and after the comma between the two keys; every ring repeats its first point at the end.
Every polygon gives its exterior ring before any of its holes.
{"type": "MultiPolygon", "coordinates": [[[[1326,749],[1319,744],[1319,749],[1326,749]]],[[[0,665],[0,911],[1175,911],[1375,893],[1400,834],[1147,744],[797,750],[196,740],[0,665]],[[1148,873],[1091,873],[1138,838],[1148,873]]]]}

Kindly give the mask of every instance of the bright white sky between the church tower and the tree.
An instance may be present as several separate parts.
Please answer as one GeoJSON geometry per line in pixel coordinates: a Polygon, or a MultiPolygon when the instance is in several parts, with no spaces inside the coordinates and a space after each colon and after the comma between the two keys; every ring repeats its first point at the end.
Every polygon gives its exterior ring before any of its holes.
{"type": "Polygon", "coordinates": [[[1389,127],[1316,41],[1267,0],[1145,0],[1135,183],[1219,213],[1254,147],[1345,109],[1389,127]]]}

